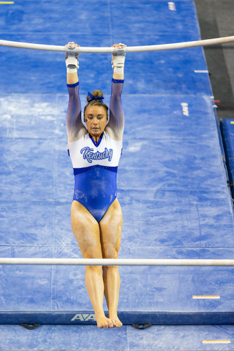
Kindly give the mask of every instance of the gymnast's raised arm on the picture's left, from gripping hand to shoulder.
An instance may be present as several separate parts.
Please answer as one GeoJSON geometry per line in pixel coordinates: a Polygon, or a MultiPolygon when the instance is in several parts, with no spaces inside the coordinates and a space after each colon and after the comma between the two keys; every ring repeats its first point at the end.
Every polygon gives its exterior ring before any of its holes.
{"type": "Polygon", "coordinates": [[[71,49],[71,53],[66,53],[66,65],[67,65],[67,87],[69,90],[69,106],[67,109],[67,137],[68,137],[68,149],[69,143],[77,141],[84,134],[86,134],[86,128],[84,127],[81,119],[81,106],[80,106],[80,95],[79,95],[79,80],[77,70],[78,56],[79,53],[73,53],[72,49],[77,47],[75,43],[68,43],[66,47],[71,49]]]}

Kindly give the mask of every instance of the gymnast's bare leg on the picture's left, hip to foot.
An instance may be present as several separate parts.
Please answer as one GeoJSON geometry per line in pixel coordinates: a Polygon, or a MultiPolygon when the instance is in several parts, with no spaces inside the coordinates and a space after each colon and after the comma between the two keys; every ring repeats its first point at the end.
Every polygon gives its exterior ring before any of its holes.
{"type": "MultiPolygon", "coordinates": [[[[84,258],[102,258],[100,227],[93,215],[76,201],[73,201],[71,205],[71,228],[84,258]]],[[[102,266],[86,266],[85,282],[98,328],[112,328],[113,322],[106,318],[103,311],[104,282],[102,266]]]]}

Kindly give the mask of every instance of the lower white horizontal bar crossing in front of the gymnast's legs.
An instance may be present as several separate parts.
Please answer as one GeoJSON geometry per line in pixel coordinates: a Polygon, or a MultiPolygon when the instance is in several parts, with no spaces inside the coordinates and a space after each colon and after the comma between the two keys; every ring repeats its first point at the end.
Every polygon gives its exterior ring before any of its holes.
{"type": "Polygon", "coordinates": [[[234,260],[154,260],[131,258],[0,258],[0,265],[234,266],[234,260]]]}

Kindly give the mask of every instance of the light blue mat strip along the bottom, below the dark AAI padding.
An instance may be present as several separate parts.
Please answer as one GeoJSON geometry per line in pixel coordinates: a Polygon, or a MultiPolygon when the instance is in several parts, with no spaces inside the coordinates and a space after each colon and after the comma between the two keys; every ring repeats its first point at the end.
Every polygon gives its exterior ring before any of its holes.
{"type": "Polygon", "coordinates": [[[234,326],[152,326],[97,330],[95,326],[0,326],[0,350],[203,351],[233,350],[234,326]],[[228,340],[204,344],[203,340],[228,340]],[[166,348],[165,348],[166,346],[166,348]]]}

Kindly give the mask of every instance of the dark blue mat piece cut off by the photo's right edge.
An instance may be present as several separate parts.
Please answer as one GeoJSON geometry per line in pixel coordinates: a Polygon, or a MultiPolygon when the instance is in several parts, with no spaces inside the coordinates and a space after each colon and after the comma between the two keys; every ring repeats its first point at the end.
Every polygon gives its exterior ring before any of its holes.
{"type": "MultiPolygon", "coordinates": [[[[229,173],[229,180],[231,184],[234,181],[234,119],[222,119],[220,122],[220,129],[222,132],[222,141],[224,144],[224,152],[226,155],[226,167],[229,173]]],[[[234,197],[233,185],[231,191],[234,197]]]]}

